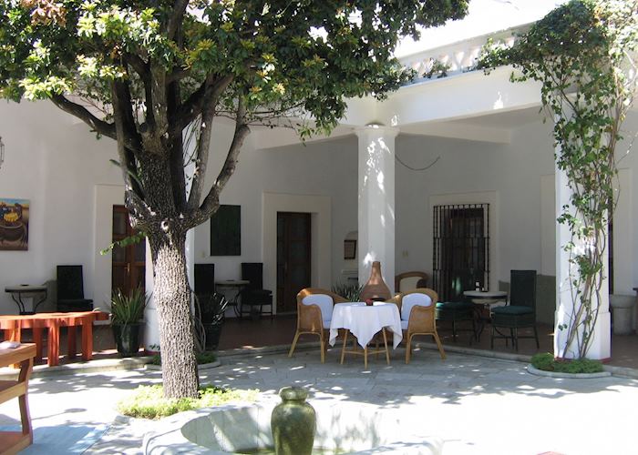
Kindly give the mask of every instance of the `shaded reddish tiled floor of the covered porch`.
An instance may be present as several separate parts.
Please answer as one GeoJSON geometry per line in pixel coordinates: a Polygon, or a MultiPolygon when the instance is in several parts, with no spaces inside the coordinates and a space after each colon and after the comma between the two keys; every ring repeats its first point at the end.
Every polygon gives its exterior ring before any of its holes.
{"type": "MultiPolygon", "coordinates": [[[[295,316],[278,316],[273,319],[262,318],[252,319],[226,319],[221,331],[220,350],[261,348],[264,346],[290,345],[293,341],[296,327],[295,316]]],[[[444,346],[458,346],[470,349],[490,350],[490,327],[486,325],[479,341],[472,339],[470,331],[459,331],[458,339],[455,343],[452,340],[451,329],[445,322],[438,325],[438,332],[444,346]]],[[[553,328],[547,325],[539,325],[540,349],[536,349],[533,339],[521,339],[519,354],[533,355],[537,352],[553,351],[553,328]]],[[[522,333],[522,332],[521,332],[522,333]]],[[[528,332],[530,334],[530,332],[528,332]]],[[[28,331],[25,340],[28,340],[28,331]]],[[[303,335],[300,343],[316,342],[317,337],[303,335]]],[[[424,341],[431,341],[431,338],[424,337],[424,341]]],[[[77,347],[79,352],[79,346],[77,347]]],[[[109,326],[97,326],[94,330],[95,358],[117,357],[115,343],[109,326]]],[[[65,332],[62,332],[60,350],[64,355],[67,352],[67,341],[65,332]]],[[[494,351],[515,353],[511,344],[505,346],[504,340],[495,340],[494,351]]],[[[329,357],[336,356],[338,347],[329,350],[329,357]]],[[[396,354],[395,354],[396,355],[396,354]]],[[[67,363],[69,359],[63,357],[61,363],[67,363]]],[[[72,360],[77,361],[77,360],[72,360]]],[[[618,367],[629,367],[638,369],[638,335],[612,336],[612,359],[610,365],[618,367]]]]}

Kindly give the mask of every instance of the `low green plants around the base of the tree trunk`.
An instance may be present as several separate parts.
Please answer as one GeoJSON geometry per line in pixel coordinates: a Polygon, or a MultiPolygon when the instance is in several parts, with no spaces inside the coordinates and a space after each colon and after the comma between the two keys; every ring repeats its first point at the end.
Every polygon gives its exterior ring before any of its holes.
{"type": "Polygon", "coordinates": [[[118,402],[118,411],[130,417],[160,419],[184,410],[211,408],[230,401],[254,401],[258,391],[207,386],[200,389],[197,399],[165,399],[161,385],[139,386],[131,396],[118,402]]]}

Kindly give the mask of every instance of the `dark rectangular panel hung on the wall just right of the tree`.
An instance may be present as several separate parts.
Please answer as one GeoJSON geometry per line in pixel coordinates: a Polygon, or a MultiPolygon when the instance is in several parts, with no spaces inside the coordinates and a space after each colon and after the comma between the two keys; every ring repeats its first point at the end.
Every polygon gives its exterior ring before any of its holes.
{"type": "Polygon", "coordinates": [[[211,256],[242,255],[242,206],[220,206],[211,217],[211,256]]]}

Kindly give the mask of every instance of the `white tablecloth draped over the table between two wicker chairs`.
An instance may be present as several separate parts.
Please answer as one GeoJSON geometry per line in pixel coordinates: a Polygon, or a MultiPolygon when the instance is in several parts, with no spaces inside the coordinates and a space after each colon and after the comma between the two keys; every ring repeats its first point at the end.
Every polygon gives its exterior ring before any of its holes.
{"type": "Polygon", "coordinates": [[[337,303],[333,309],[333,319],[330,321],[330,346],[338,335],[338,329],[348,329],[362,348],[370,342],[376,332],[386,327],[394,332],[394,348],[403,339],[401,332],[401,316],[394,303],[376,302],[367,307],[365,302],[337,303]]]}

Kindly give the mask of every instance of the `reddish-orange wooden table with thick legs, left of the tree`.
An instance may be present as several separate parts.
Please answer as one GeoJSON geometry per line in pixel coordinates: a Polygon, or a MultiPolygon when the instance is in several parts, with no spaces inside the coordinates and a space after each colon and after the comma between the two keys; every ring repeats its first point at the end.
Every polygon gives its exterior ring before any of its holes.
{"type": "Polygon", "coordinates": [[[20,341],[22,329],[33,329],[36,343],[36,359],[42,359],[42,330],[48,329],[47,364],[59,364],[60,327],[67,327],[68,357],[76,356],[76,328],[82,328],[82,359],[93,359],[93,322],[107,320],[103,311],[77,311],[73,313],[36,313],[33,315],[0,316],[0,329],[5,330],[5,339],[20,341]]]}

